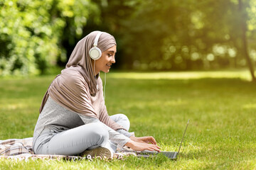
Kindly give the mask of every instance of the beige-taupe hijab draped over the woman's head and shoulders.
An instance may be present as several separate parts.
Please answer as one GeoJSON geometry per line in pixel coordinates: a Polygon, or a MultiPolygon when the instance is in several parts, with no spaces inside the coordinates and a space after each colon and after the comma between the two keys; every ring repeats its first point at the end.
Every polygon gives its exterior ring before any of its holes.
{"type": "MultiPolygon", "coordinates": [[[[94,76],[92,59],[89,56],[89,50],[93,47],[95,37],[99,31],[94,31],[82,38],[75,46],[65,69],[58,74],[50,84],[43,101],[41,103],[40,113],[46,104],[50,95],[54,101],[76,113],[98,118],[91,106],[90,94],[95,96],[97,92],[97,77],[94,76]]],[[[98,40],[97,47],[102,52],[113,47],[116,44],[114,37],[108,33],[102,33],[98,40]]]]}

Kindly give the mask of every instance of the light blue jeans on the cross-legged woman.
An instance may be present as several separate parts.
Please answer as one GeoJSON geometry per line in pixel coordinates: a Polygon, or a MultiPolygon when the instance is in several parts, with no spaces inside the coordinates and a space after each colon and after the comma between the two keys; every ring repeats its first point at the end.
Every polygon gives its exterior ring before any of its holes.
{"type": "MultiPolygon", "coordinates": [[[[110,118],[129,130],[130,123],[126,115],[111,115],[110,118]]],[[[34,152],[36,154],[77,155],[86,149],[96,147],[107,147],[112,152],[117,149],[117,144],[109,140],[109,133],[100,122],[88,123],[63,132],[45,128],[36,140],[34,152]]]]}

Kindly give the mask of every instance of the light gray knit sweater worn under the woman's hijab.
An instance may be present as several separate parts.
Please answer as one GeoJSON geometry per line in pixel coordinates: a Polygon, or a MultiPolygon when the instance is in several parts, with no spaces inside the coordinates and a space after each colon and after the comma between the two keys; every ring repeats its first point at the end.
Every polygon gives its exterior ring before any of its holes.
{"type": "MultiPolygon", "coordinates": [[[[43,107],[43,111],[39,115],[38,121],[36,123],[33,134],[33,143],[36,142],[44,128],[52,129],[55,132],[63,132],[65,130],[76,128],[80,125],[85,125],[87,123],[97,121],[100,120],[75,113],[68,110],[67,108],[64,108],[63,106],[60,106],[49,96],[48,100],[46,101],[46,105],[43,107]]],[[[109,132],[110,140],[114,143],[117,143],[118,147],[123,147],[130,140],[129,137],[131,136],[131,133],[127,132],[126,130],[119,129],[115,131],[107,125],[105,125],[105,128],[109,132]]]]}

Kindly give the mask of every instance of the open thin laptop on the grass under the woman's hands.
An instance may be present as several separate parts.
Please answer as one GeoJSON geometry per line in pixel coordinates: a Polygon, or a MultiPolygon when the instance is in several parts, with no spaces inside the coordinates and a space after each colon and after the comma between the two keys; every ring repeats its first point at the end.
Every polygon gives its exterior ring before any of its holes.
{"type": "MultiPolygon", "coordinates": [[[[188,123],[189,123],[189,119],[188,119],[188,123]]],[[[188,123],[186,125],[186,129],[188,128],[188,123]]],[[[183,133],[183,137],[182,137],[182,140],[181,140],[181,145],[182,145],[185,133],[186,133],[186,129],[185,129],[185,131],[183,133]]],[[[178,154],[179,154],[179,152],[181,150],[181,145],[178,148],[178,152],[167,152],[167,151],[157,152],[157,151],[144,150],[142,152],[137,152],[137,157],[150,157],[151,155],[163,154],[164,156],[168,157],[169,159],[177,159],[178,154]]]]}

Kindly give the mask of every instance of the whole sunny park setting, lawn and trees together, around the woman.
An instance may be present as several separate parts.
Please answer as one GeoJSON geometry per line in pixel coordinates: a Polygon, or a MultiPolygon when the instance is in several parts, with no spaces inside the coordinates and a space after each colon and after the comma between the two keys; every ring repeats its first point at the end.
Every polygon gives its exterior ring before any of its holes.
{"type": "MultiPolygon", "coordinates": [[[[1,0],[0,140],[33,135],[43,94],[93,30],[114,35],[110,115],[153,135],[164,157],[12,162],[0,169],[255,169],[256,1],[1,0]]],[[[104,74],[101,74],[104,77],[104,74]]]]}

